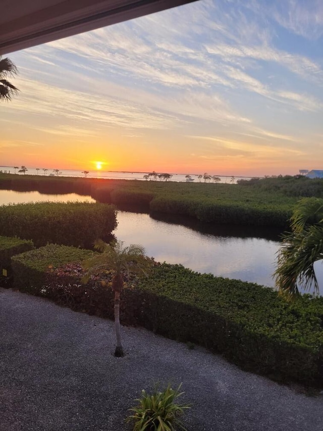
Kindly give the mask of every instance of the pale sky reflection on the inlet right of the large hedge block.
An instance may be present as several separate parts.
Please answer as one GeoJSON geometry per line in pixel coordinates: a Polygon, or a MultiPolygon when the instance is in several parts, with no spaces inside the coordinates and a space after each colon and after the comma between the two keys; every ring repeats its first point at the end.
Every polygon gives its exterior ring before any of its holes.
{"type": "Polygon", "coordinates": [[[119,211],[115,235],[128,244],[143,244],[147,254],[157,261],[181,263],[199,272],[274,286],[272,274],[279,242],[228,236],[228,230],[224,230],[225,234],[215,236],[165,223],[148,214],[119,211]]]}

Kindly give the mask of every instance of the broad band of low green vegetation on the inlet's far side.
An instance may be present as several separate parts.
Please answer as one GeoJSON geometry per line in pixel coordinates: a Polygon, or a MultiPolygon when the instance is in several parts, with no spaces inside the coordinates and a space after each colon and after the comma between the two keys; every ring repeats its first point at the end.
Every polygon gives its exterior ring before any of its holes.
{"type": "Polygon", "coordinates": [[[0,174],[0,188],[90,195],[121,208],[180,214],[206,223],[287,227],[301,196],[318,196],[322,180],[282,177],[239,184],[161,182],[0,174]],[[312,182],[313,181],[313,182],[312,182]]]}

